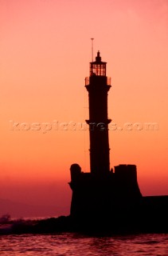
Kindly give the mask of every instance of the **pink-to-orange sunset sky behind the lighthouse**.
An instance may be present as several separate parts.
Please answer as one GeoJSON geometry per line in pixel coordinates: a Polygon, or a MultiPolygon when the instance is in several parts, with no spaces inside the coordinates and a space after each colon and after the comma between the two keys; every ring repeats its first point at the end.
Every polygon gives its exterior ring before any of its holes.
{"type": "Polygon", "coordinates": [[[0,198],[69,205],[69,166],[89,171],[88,130],[69,123],[88,118],[90,38],[111,76],[109,118],[143,127],[109,130],[111,167],[135,164],[143,195],[168,194],[167,0],[0,0],[0,198]]]}

